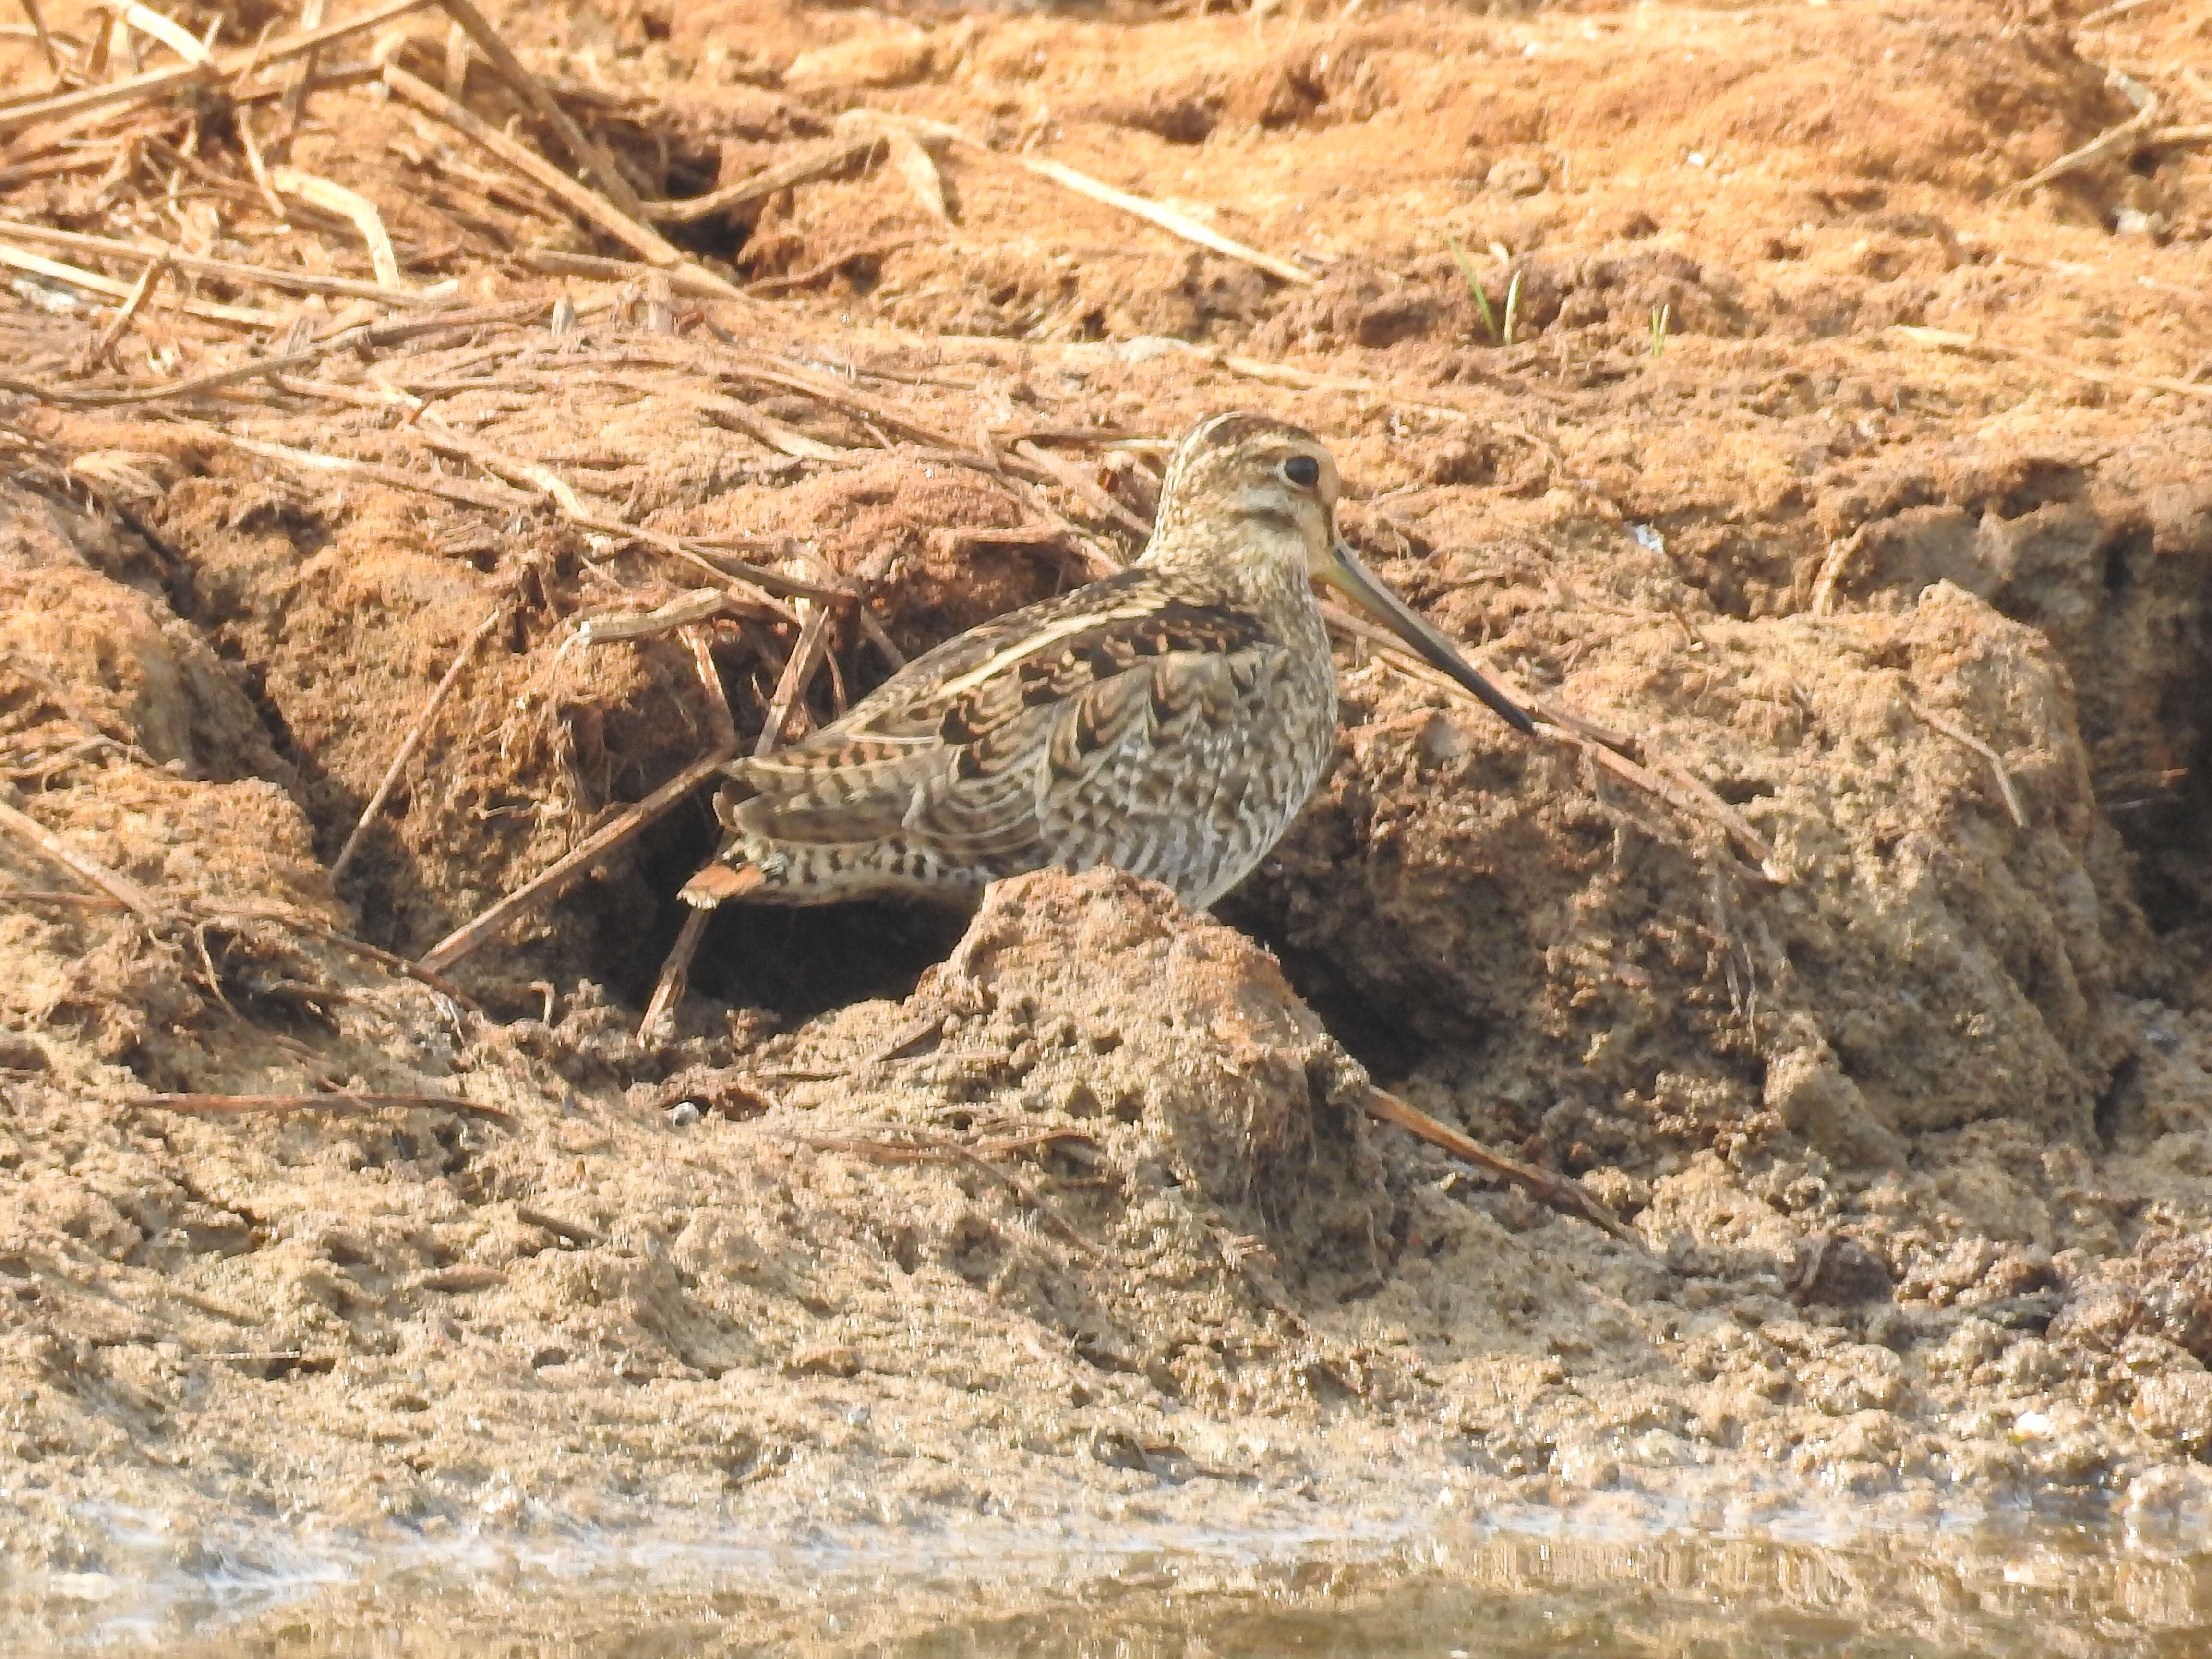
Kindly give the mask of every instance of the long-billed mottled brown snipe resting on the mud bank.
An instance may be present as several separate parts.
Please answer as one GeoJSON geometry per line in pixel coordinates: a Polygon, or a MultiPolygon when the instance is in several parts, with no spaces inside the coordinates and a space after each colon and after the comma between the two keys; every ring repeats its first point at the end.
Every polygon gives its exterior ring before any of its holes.
{"type": "Polygon", "coordinates": [[[1533,730],[1358,562],[1336,493],[1310,431],[1203,420],[1130,568],[969,628],[803,743],[730,761],[728,838],[686,902],[971,898],[1026,869],[1115,865],[1206,909],[1267,856],[1336,743],[1310,580],[1533,730]]]}

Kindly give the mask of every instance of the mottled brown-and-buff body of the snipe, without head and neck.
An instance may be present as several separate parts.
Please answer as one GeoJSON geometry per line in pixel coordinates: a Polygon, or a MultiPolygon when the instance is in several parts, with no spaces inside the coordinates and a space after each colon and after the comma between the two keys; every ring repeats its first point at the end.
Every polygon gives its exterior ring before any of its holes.
{"type": "Polygon", "coordinates": [[[1137,566],[916,659],[717,801],[745,896],[960,898],[1115,865],[1206,907],[1327,765],[1336,679],[1303,580],[1276,604],[1137,566]]]}

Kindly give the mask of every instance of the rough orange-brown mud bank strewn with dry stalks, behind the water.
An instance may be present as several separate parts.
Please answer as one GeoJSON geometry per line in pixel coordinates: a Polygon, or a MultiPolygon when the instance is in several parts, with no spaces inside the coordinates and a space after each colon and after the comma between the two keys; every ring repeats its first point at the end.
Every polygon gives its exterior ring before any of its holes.
{"type": "Polygon", "coordinates": [[[234,1517],[2203,1513],[2212,24],[500,27],[644,199],[865,142],[617,265],[409,102],[557,153],[403,20],[281,157],[380,215],[403,299],[349,301],[299,290],[389,274],[274,219],[274,100],[0,139],[22,223],[263,272],[150,283],[113,358],[115,296],[0,299],[4,799],[126,883],[0,836],[18,1559],[95,1571],[115,1504],[179,1559],[234,1517]],[[254,354],[299,361],[184,385],[254,354]],[[453,967],[476,1006],[361,949],[1128,555],[1157,440],[1234,405],[1619,739],[1349,641],[1336,768],[1221,920],[1110,874],[964,931],[728,916],[657,1048],[703,805],[453,967]],[[1644,1248],[1369,1124],[1369,1075],[1644,1248]],[[467,1110],[139,1104],[327,1091],[467,1110]]]}

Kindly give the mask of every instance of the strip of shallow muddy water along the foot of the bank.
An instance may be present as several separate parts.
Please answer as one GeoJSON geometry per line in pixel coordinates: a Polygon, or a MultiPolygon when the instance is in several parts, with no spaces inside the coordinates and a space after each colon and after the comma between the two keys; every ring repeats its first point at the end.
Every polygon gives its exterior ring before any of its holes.
{"type": "MultiPolygon", "coordinates": [[[[164,1546],[4,1575],[0,1652],[849,1655],[852,1659],[2115,1659],[2212,1655],[2212,1548],[2051,1517],[1814,1540],[1573,1535],[1557,1515],[1380,1540],[1071,1551],[1000,1533],[407,1551],[164,1546]]],[[[1781,1528],[1787,1531],[1787,1528],[1781,1528]]]]}

